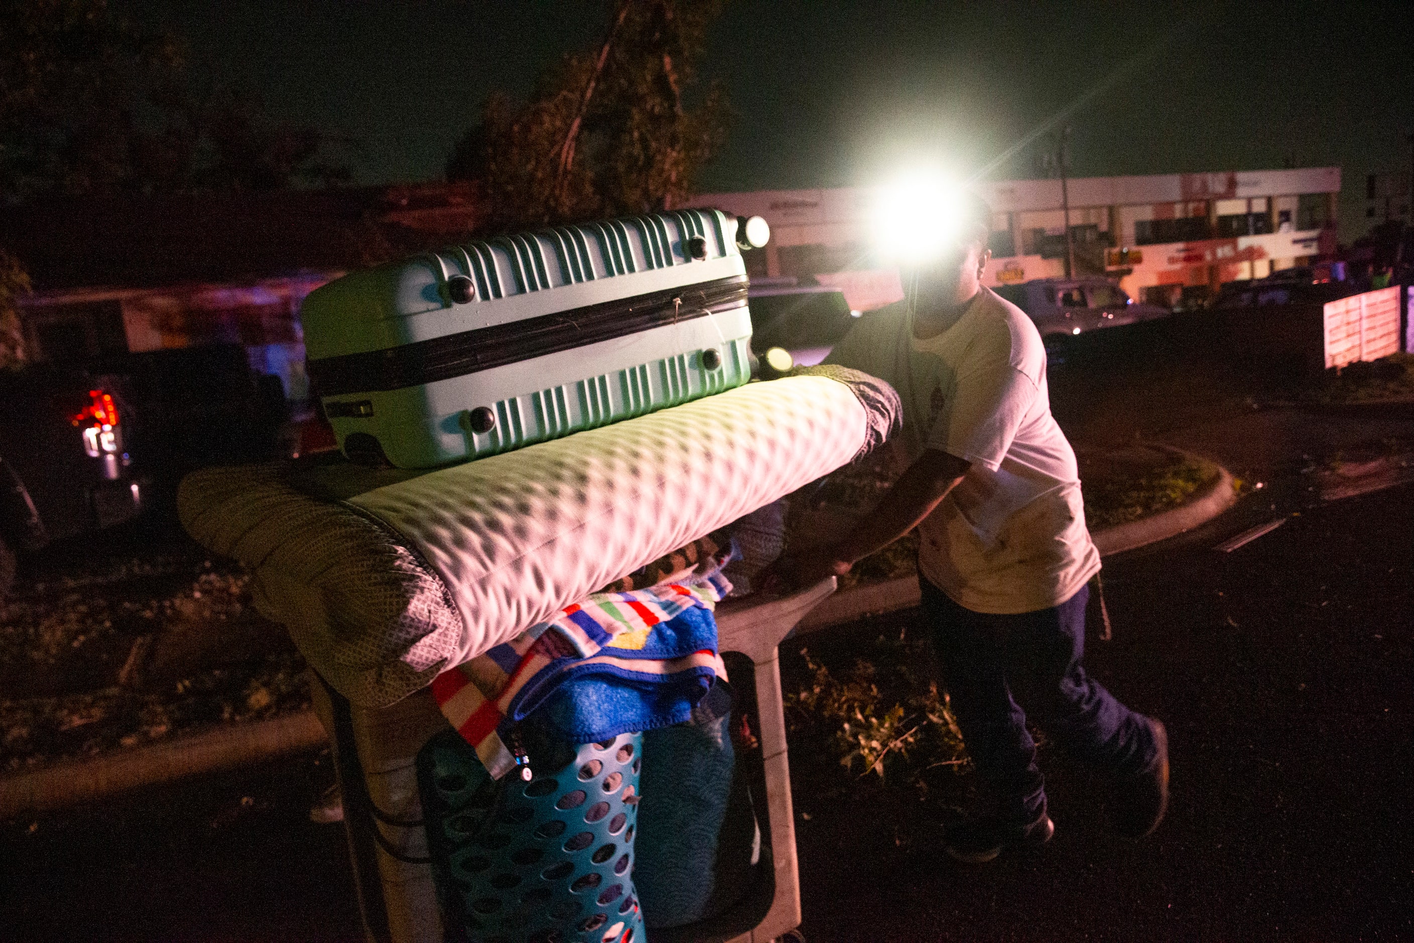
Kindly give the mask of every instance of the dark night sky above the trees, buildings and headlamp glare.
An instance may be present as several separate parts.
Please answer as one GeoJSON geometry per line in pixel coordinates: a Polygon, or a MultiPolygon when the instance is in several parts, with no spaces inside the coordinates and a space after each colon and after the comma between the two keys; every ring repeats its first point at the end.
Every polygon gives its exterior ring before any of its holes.
{"type": "MultiPolygon", "coordinates": [[[[115,6],[185,35],[277,117],[356,139],[361,182],[438,175],[488,90],[525,95],[607,23],[590,1],[115,6]]],[[[971,172],[1100,89],[1070,117],[1076,175],[1339,164],[1349,239],[1365,174],[1408,167],[1411,27],[1400,3],[735,0],[703,72],[737,122],[701,188],[860,184],[918,153],[971,172]]]]}

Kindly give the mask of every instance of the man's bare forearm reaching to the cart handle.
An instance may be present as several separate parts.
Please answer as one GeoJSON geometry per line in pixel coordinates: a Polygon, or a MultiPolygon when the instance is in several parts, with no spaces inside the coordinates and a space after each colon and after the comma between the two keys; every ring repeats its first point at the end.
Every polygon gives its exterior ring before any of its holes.
{"type": "Polygon", "coordinates": [[[884,500],[844,540],[792,554],[786,573],[796,585],[843,577],[855,563],[916,527],[963,479],[971,462],[928,448],[894,482],[884,500]]]}

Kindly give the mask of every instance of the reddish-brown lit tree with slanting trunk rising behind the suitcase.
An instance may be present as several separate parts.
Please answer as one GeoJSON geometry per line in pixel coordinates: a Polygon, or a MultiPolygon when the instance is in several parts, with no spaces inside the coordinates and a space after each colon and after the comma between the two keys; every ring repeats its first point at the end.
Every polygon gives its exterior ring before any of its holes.
{"type": "Polygon", "coordinates": [[[718,85],[693,100],[721,0],[617,0],[602,42],[546,69],[522,105],[486,98],[457,143],[450,180],[484,187],[485,229],[680,205],[720,150],[718,85]]]}

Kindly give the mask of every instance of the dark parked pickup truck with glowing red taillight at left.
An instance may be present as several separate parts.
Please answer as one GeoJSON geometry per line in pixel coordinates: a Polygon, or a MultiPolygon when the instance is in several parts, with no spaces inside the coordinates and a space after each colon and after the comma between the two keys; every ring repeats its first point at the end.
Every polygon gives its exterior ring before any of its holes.
{"type": "Polygon", "coordinates": [[[291,451],[280,379],[236,344],[0,370],[0,601],[17,554],[170,515],[195,468],[291,451]]]}

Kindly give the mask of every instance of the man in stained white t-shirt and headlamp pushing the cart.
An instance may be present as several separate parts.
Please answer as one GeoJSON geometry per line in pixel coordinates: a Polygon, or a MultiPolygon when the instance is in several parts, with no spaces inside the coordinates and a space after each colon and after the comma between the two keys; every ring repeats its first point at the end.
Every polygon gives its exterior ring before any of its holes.
{"type": "Polygon", "coordinates": [[[912,464],[846,540],[786,566],[799,581],[843,575],[918,527],[923,612],[990,800],[945,847],[980,862],[1055,830],[1018,700],[1109,775],[1121,834],[1162,819],[1168,744],[1159,721],[1120,704],[1080,663],[1100,554],[1075,452],[1051,416],[1041,335],[981,286],[991,211],[973,195],[966,205],[943,256],[905,274],[912,297],[865,315],[826,361],[894,385],[912,464]]]}

